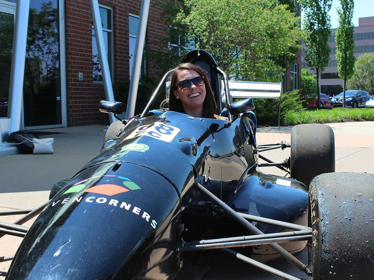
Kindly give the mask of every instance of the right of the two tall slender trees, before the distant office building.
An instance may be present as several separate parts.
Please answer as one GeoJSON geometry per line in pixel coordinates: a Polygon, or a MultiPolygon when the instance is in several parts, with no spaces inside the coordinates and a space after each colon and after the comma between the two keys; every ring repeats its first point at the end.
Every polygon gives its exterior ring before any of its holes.
{"type": "Polygon", "coordinates": [[[335,34],[336,62],[339,77],[343,79],[343,107],[346,106],[346,83],[353,75],[355,65],[355,41],[353,41],[353,0],[340,0],[341,8],[337,9],[339,15],[339,26],[335,34]]]}

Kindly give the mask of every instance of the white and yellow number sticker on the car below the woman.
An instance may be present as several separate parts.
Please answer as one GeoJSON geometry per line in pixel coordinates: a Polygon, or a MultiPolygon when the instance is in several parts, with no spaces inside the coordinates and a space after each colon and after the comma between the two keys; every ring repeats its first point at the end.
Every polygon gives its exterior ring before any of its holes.
{"type": "Polygon", "coordinates": [[[149,136],[165,142],[171,142],[174,137],[181,131],[177,127],[163,124],[162,122],[154,122],[153,124],[142,125],[132,131],[126,139],[132,139],[138,136],[149,136]]]}

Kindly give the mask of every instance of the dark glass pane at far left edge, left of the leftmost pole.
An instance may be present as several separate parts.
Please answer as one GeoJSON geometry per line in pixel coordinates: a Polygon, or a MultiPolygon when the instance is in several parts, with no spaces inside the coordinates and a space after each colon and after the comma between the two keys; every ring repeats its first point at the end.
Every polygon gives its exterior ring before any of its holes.
{"type": "Polygon", "coordinates": [[[7,118],[16,4],[0,1],[0,118],[7,118]]]}

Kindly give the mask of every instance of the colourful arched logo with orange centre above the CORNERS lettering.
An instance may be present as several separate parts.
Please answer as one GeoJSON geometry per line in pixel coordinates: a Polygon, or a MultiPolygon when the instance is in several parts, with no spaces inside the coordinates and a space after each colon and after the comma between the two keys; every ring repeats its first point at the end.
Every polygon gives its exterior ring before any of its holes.
{"type": "Polygon", "coordinates": [[[123,184],[127,187],[118,186],[114,184],[101,184],[101,185],[96,185],[93,187],[90,187],[89,189],[85,190],[87,193],[99,193],[101,195],[117,195],[119,193],[124,193],[128,192],[129,190],[140,190],[141,187],[139,187],[137,184],[135,184],[133,181],[131,181],[129,178],[122,177],[122,176],[117,176],[117,175],[99,175],[99,176],[93,176],[88,179],[82,180],[78,183],[75,183],[73,186],[71,186],[65,193],[76,193],[80,192],[86,187],[85,183],[86,181],[93,179],[93,178],[98,178],[98,177],[118,177],[123,181],[123,184]]]}

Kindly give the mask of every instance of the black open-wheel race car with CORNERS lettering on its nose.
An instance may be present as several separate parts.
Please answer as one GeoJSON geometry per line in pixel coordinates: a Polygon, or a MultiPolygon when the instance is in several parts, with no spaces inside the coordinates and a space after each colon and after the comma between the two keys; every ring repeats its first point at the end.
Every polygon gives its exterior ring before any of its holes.
{"type": "MultiPolygon", "coordinates": [[[[99,153],[18,221],[41,212],[30,229],[0,224],[0,233],[25,236],[6,280],[178,279],[196,251],[211,249],[282,279],[297,278],[264,262],[282,256],[309,280],[367,279],[374,176],[334,172],[327,125],[297,125],[291,143],[258,145],[252,99],[231,102],[209,53],[193,50],[183,61],[207,70],[229,120],[168,111],[168,100],[154,109],[166,73],[142,114],[111,124],[99,153]],[[286,147],[291,158],[281,163],[260,155],[286,147]],[[291,178],[263,174],[264,165],[291,178]],[[306,246],[303,264],[291,254],[306,246]]],[[[121,105],[99,107],[118,114],[121,105]]]]}

